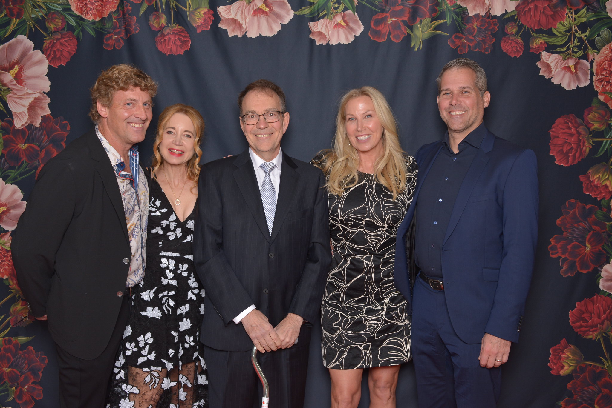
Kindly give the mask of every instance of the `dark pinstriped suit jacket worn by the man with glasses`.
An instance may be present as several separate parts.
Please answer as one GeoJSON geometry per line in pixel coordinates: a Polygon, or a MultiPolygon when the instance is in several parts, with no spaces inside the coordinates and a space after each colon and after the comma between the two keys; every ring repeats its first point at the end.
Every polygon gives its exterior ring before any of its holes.
{"type": "MultiPolygon", "coordinates": [[[[232,321],[250,305],[273,326],[288,313],[318,321],[331,259],[324,182],[318,168],[283,153],[269,234],[248,149],[203,166],[193,260],[206,289],[204,344],[252,349],[242,324],[232,321]]],[[[297,346],[309,341],[310,325],[302,325],[297,346]]]]}

